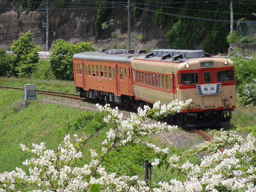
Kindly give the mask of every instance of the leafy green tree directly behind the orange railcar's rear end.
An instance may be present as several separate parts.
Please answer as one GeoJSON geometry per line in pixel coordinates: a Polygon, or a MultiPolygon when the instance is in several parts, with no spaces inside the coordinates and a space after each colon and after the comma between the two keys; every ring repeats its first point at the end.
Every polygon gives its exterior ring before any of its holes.
{"type": "Polygon", "coordinates": [[[60,80],[73,80],[74,54],[79,52],[93,51],[92,42],[72,42],[57,39],[53,45],[54,50],[50,51],[50,64],[55,78],[60,80]]]}

